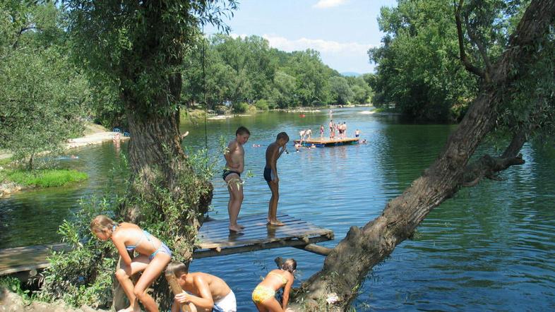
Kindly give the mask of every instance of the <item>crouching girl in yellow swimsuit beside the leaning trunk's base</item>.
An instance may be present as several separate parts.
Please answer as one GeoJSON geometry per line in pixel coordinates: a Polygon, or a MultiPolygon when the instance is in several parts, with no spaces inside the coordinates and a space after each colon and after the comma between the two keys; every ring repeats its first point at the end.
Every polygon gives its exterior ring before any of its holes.
{"type": "Polygon", "coordinates": [[[297,261],[287,259],[281,269],[271,270],[265,279],[253,290],[253,302],[261,312],[277,312],[287,309],[289,293],[295,279],[293,273],[297,269],[297,261]],[[275,299],[275,292],[283,287],[283,300],[280,305],[275,299]]]}

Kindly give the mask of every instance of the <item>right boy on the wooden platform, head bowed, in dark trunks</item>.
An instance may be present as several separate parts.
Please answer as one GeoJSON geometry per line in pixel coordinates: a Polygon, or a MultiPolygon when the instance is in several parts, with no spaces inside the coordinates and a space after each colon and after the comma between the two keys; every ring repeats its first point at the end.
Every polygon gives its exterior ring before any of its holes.
{"type": "Polygon", "coordinates": [[[280,199],[280,178],[277,177],[277,159],[280,158],[285,151],[285,145],[289,142],[287,133],[281,132],[277,134],[275,142],[268,145],[266,149],[266,166],[264,167],[264,179],[270,186],[272,197],[268,204],[268,224],[270,225],[285,225],[280,220],[277,220],[277,200],[280,199]],[[280,150],[281,148],[281,150],[280,150]]]}

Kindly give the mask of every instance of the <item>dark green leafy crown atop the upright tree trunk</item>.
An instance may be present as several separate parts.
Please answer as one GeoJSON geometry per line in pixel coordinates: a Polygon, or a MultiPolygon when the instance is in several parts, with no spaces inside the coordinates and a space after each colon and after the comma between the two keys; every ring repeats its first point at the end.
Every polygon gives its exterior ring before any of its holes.
{"type": "Polygon", "coordinates": [[[135,117],[175,112],[182,60],[200,45],[198,25],[227,30],[221,18],[236,8],[233,0],[64,3],[76,62],[118,90],[114,104],[135,117]]]}

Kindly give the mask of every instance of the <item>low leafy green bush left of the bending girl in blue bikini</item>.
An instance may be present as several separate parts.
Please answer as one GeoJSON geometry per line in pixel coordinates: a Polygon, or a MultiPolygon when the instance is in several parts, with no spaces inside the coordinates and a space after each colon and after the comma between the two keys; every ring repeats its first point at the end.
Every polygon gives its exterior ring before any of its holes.
{"type": "Polygon", "coordinates": [[[73,306],[86,304],[109,308],[117,251],[111,241],[100,241],[90,233],[89,223],[97,215],[114,215],[114,203],[108,200],[81,200],[72,221],[59,227],[62,241],[73,249],[54,252],[49,267],[40,277],[37,298],[44,301],[63,299],[73,306]]]}

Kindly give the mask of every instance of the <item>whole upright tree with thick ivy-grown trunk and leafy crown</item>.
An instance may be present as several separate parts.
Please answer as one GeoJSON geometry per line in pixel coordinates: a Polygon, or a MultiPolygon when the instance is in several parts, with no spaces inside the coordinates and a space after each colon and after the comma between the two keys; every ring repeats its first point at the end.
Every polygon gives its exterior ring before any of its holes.
{"type": "Polygon", "coordinates": [[[76,60],[92,78],[117,87],[129,125],[131,177],[118,214],[148,224],[188,263],[212,186],[181,147],[181,66],[201,42],[200,23],[225,28],[220,18],[235,2],[68,0],[64,5],[76,60]]]}

